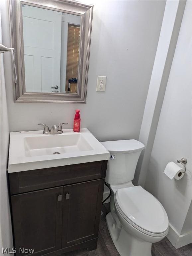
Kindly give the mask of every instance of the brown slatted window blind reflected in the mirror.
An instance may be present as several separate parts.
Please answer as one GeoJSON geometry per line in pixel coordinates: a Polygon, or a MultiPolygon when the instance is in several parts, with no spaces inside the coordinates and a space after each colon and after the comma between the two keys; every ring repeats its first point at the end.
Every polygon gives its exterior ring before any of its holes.
{"type": "MultiPolygon", "coordinates": [[[[68,80],[78,77],[78,61],[79,61],[79,41],[80,26],[68,24],[67,38],[67,68],[66,68],[66,84],[67,92],[68,80]]],[[[70,93],[77,93],[77,83],[70,83],[70,93]]]]}

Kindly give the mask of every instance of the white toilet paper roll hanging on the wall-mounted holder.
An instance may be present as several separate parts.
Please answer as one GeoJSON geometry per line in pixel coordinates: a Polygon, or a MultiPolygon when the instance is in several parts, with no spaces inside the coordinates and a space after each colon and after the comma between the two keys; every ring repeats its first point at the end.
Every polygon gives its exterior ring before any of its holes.
{"type": "Polygon", "coordinates": [[[173,178],[175,178],[176,180],[180,180],[185,174],[183,172],[184,169],[175,164],[174,162],[169,162],[164,169],[164,174],[166,174],[171,180],[173,178]]]}

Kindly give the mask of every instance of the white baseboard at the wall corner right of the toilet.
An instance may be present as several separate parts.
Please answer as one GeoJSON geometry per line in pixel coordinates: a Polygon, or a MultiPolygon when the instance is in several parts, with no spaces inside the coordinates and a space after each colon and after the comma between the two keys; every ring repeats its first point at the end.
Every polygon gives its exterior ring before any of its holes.
{"type": "Polygon", "coordinates": [[[180,235],[177,230],[169,223],[168,240],[178,249],[184,245],[192,243],[192,231],[180,235]]]}

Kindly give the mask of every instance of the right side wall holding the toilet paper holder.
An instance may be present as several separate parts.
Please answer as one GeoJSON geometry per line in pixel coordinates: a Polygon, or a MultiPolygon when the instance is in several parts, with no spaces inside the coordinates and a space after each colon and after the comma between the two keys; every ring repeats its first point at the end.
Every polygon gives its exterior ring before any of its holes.
{"type": "Polygon", "coordinates": [[[186,3],[145,182],[178,234],[191,204],[191,4],[186,3]],[[166,164],[182,157],[188,161],[186,174],[170,180],[163,174],[166,164]]]}

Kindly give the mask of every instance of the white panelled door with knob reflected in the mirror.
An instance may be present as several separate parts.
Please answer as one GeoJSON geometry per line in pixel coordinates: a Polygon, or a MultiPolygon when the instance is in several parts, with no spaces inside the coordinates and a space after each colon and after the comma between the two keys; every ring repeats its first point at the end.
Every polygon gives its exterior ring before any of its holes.
{"type": "Polygon", "coordinates": [[[62,13],[28,5],[22,13],[26,92],[60,92],[62,13]]]}

